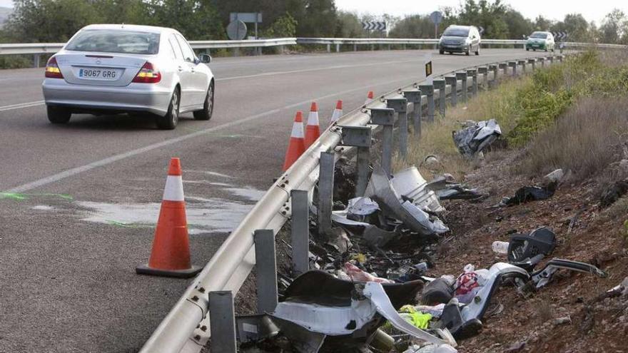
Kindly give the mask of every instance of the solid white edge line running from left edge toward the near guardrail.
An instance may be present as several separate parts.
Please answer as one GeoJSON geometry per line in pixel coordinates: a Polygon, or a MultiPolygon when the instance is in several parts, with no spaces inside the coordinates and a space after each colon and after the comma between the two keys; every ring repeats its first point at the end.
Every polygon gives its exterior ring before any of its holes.
{"type": "Polygon", "coordinates": [[[4,192],[6,193],[23,193],[24,191],[27,190],[33,190],[34,188],[39,188],[40,186],[44,186],[44,185],[48,185],[51,183],[55,183],[56,181],[59,180],[64,180],[66,178],[70,178],[71,176],[83,173],[83,172],[87,172],[89,170],[93,170],[95,168],[98,167],[103,167],[104,165],[109,165],[111,163],[115,163],[118,160],[123,160],[126,158],[130,158],[133,157],[135,155],[140,155],[142,153],[146,153],[146,152],[150,152],[151,150],[156,150],[158,148],[163,148],[166,147],[168,145],[173,145],[175,143],[180,143],[182,141],[185,140],[189,140],[191,138],[196,138],[198,136],[201,135],[205,135],[206,133],[211,133],[213,131],[220,131],[220,130],[224,130],[226,128],[231,128],[232,126],[239,126],[242,123],[246,123],[248,121],[254,121],[257,120],[259,118],[263,118],[265,116],[270,116],[276,113],[279,113],[280,111],[284,110],[284,109],[289,109],[289,108],[295,108],[297,106],[302,106],[303,104],[307,104],[310,103],[311,101],[320,101],[323,100],[325,98],[331,98],[331,97],[338,97],[340,95],[346,94],[346,93],[351,93],[351,92],[355,92],[355,91],[363,91],[366,90],[368,88],[373,88],[373,86],[383,86],[383,85],[388,85],[391,83],[400,83],[400,82],[407,82],[410,83],[412,80],[409,78],[402,78],[400,80],[394,80],[394,81],[388,81],[388,82],[382,82],[382,83],[378,83],[377,85],[368,85],[368,86],[362,86],[359,88],[353,88],[350,90],[346,90],[346,91],[340,91],[340,92],[336,92],[336,93],[331,93],[325,96],[320,96],[317,98],[311,98],[308,99],[306,101],[300,101],[298,103],[293,103],[290,104],[288,106],[284,106],[283,108],[276,108],[276,109],[272,109],[270,111],[265,111],[264,113],[259,113],[259,114],[255,114],[253,116],[248,116],[247,118],[243,118],[240,119],[238,121],[231,121],[229,123],[224,123],[223,125],[219,125],[219,126],[214,126],[213,128],[206,128],[204,130],[200,130],[200,131],[196,131],[195,133],[188,133],[187,135],[181,135],[178,136],[176,138],[171,138],[169,140],[163,140],[161,142],[158,143],[153,143],[151,145],[147,145],[141,148],[136,148],[135,150],[129,150],[125,153],[120,153],[118,155],[112,155],[111,157],[108,158],[104,158],[101,160],[96,160],[96,162],[92,162],[92,163],[88,163],[86,165],[81,165],[80,167],[76,167],[76,168],[71,168],[69,170],[65,170],[61,173],[56,173],[54,175],[50,175],[46,178],[41,178],[39,180],[35,180],[32,181],[31,183],[26,183],[26,184],[22,184],[19,186],[16,186],[15,188],[11,188],[9,190],[4,190],[4,192]]]}

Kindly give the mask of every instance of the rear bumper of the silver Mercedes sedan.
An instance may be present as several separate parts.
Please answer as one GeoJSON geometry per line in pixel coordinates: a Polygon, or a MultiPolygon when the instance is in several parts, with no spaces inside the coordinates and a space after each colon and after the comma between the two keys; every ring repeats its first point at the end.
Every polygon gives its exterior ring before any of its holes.
{"type": "Polygon", "coordinates": [[[146,111],[166,114],[171,91],[151,83],[123,87],[87,86],[46,78],[42,85],[47,106],[66,106],[77,111],[146,111]]]}

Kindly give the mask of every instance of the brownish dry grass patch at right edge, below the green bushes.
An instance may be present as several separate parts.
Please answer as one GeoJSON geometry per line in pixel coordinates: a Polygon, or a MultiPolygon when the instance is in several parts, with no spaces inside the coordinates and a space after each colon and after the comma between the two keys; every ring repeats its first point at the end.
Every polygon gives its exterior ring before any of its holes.
{"type": "Polygon", "coordinates": [[[583,98],[532,140],[515,172],[540,175],[563,168],[579,179],[599,175],[624,158],[626,111],[626,98],[583,98]]]}

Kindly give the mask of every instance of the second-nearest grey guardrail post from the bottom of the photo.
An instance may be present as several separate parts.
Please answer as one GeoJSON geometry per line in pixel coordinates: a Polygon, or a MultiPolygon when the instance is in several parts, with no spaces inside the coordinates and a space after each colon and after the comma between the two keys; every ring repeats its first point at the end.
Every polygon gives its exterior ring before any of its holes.
{"type": "MultiPolygon", "coordinates": [[[[331,216],[330,216],[331,217],[331,216]]],[[[258,290],[258,313],[274,312],[277,307],[277,260],[272,229],[253,232],[255,241],[255,274],[258,290]]]]}

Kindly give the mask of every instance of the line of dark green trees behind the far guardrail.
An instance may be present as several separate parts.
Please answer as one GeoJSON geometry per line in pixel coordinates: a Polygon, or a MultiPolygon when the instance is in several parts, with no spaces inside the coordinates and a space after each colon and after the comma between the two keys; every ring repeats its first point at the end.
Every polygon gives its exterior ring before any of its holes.
{"type": "MultiPolygon", "coordinates": [[[[64,42],[81,27],[99,23],[172,27],[192,41],[227,39],[231,12],[262,13],[261,38],[387,36],[385,31],[363,29],[363,21],[385,21],[388,36],[393,38],[435,35],[427,14],[404,17],[358,14],[339,10],[334,0],[14,0],[13,4],[13,9],[0,8],[0,43],[64,42]]],[[[617,9],[599,26],[587,22],[582,14],[567,14],[562,21],[550,21],[543,16],[527,19],[501,0],[465,0],[459,6],[440,10],[444,16],[439,34],[450,24],[472,24],[485,29],[482,34],[485,39],[521,39],[532,31],[565,31],[569,41],[628,44],[628,16],[617,9]]],[[[253,24],[247,26],[248,36],[253,36],[253,24]]],[[[303,48],[293,50],[303,51],[303,48]]],[[[277,48],[264,48],[265,53],[277,51],[277,48]]],[[[240,55],[254,52],[243,49],[240,55]]],[[[225,49],[212,51],[216,56],[229,54],[225,49]]],[[[0,56],[0,68],[29,66],[32,66],[31,56],[0,56]]]]}

